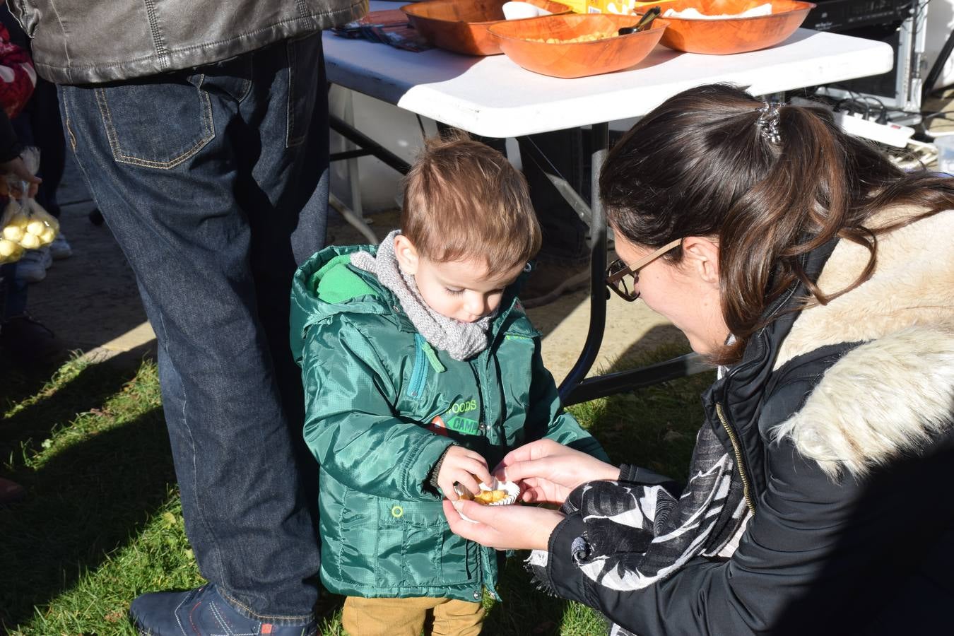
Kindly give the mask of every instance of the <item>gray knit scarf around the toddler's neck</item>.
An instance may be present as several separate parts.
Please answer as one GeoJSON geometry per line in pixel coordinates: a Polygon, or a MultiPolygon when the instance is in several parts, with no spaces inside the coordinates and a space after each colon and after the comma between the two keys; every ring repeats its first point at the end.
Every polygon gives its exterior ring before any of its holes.
{"type": "Polygon", "coordinates": [[[378,277],[381,284],[401,301],[404,313],[421,335],[432,346],[450,354],[451,358],[466,360],[487,349],[487,330],[496,312],[476,322],[460,322],[431,309],[418,292],[414,277],[404,274],[398,266],[394,237],[399,234],[401,231],[395,230],[384,238],[378,246],[377,257],[367,252],[352,253],[351,264],[378,277]]]}

